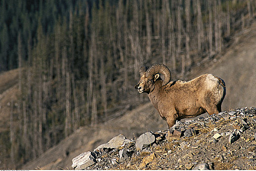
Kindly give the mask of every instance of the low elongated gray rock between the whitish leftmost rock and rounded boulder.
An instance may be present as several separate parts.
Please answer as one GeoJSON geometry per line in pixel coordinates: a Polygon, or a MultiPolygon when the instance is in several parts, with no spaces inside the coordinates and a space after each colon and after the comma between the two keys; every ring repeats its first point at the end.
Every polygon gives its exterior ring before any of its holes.
{"type": "Polygon", "coordinates": [[[124,143],[128,143],[130,140],[126,139],[123,134],[117,135],[116,137],[112,138],[108,143],[102,144],[99,147],[97,147],[95,150],[99,150],[101,148],[106,149],[117,149],[120,146],[122,146],[124,143]]]}

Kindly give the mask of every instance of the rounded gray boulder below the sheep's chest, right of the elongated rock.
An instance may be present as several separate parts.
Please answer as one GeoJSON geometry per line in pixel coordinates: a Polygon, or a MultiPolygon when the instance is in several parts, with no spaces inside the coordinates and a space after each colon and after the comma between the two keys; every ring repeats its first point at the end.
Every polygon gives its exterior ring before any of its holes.
{"type": "Polygon", "coordinates": [[[136,148],[142,150],[155,142],[155,136],[151,132],[143,133],[136,141],[136,148]]]}

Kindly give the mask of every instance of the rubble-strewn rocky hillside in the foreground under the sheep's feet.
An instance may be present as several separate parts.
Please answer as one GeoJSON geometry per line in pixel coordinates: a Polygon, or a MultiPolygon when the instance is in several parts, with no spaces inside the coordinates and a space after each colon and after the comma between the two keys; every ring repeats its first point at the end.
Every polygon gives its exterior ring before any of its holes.
{"type": "Polygon", "coordinates": [[[255,170],[256,108],[177,122],[164,131],[126,139],[120,134],[81,153],[73,169],[255,170]]]}

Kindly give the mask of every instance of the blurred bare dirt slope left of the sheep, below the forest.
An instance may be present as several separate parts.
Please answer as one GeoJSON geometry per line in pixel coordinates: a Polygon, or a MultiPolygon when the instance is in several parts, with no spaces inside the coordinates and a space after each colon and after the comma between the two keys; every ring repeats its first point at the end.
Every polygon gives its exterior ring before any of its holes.
{"type": "Polygon", "coordinates": [[[166,122],[158,116],[151,104],[147,103],[121,118],[110,120],[97,127],[78,129],[56,147],[23,166],[23,169],[67,169],[72,164],[72,158],[81,152],[93,150],[118,134],[122,133],[130,139],[140,136],[147,130],[157,131],[166,128],[168,128],[166,122]]]}

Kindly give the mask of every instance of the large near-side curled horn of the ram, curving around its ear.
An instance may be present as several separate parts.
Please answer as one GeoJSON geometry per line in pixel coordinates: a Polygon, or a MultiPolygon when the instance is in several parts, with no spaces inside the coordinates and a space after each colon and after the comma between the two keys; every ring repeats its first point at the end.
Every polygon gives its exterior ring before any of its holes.
{"type": "Polygon", "coordinates": [[[146,77],[149,75],[154,76],[155,74],[160,73],[165,76],[165,80],[163,81],[163,85],[167,85],[171,80],[171,71],[164,64],[153,64],[146,71],[146,77]]]}

